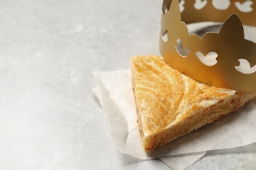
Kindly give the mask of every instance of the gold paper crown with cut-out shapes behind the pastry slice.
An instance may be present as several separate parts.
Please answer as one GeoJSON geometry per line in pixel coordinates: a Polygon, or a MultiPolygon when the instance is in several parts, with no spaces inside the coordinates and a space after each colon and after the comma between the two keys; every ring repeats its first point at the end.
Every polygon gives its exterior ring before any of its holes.
{"type": "Polygon", "coordinates": [[[256,44],[244,38],[242,25],[256,26],[256,1],[216,2],[164,0],[161,56],[174,69],[205,84],[256,92],[256,72],[251,68],[256,64],[256,44]],[[202,37],[188,32],[186,24],[206,21],[224,24],[219,33],[202,37]],[[214,62],[206,62],[209,58],[214,62]],[[240,70],[242,63],[247,63],[247,71],[240,70]]]}

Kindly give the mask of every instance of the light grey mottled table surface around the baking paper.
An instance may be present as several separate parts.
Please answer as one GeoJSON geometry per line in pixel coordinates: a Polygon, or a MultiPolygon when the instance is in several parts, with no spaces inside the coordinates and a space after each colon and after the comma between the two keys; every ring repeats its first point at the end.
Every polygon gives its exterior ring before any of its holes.
{"type": "MultiPolygon", "coordinates": [[[[159,54],[161,1],[0,1],[0,169],[169,169],[117,152],[92,71],[159,54]]],[[[188,169],[253,169],[256,144],[188,169]]]]}

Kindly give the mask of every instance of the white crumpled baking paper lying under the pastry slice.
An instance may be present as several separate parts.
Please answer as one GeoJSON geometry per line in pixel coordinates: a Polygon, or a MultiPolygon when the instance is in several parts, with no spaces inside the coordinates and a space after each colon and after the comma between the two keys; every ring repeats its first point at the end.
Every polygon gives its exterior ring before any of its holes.
{"type": "Polygon", "coordinates": [[[174,169],[186,169],[207,150],[234,148],[256,142],[256,100],[253,100],[217,122],[146,153],[137,126],[130,71],[95,71],[93,76],[96,80],[93,92],[102,105],[112,141],[119,152],[146,160],[160,158],[174,169]]]}

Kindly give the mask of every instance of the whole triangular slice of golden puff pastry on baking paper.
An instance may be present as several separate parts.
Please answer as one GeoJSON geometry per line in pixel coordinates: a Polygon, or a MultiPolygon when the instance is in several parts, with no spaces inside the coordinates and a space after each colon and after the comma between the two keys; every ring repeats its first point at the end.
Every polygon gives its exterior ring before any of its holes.
{"type": "Polygon", "coordinates": [[[202,84],[158,56],[132,57],[131,75],[146,151],[223,118],[256,95],[202,84]]]}

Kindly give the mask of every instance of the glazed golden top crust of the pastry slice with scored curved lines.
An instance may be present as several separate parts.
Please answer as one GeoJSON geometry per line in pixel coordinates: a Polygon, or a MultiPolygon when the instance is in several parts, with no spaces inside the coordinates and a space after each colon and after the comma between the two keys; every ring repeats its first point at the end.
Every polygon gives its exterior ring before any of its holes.
{"type": "Polygon", "coordinates": [[[142,118],[150,123],[144,129],[148,133],[165,128],[186,113],[185,109],[192,109],[201,102],[217,102],[232,92],[192,80],[160,58],[137,58],[133,67],[139,71],[135,73],[137,102],[140,110],[148,112],[142,118]]]}

